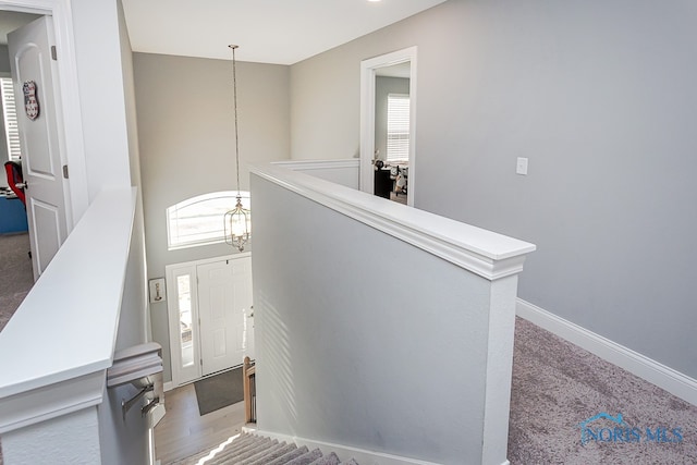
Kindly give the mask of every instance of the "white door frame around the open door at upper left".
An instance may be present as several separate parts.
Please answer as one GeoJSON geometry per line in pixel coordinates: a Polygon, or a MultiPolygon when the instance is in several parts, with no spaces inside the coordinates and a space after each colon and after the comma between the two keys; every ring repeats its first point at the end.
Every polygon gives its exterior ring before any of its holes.
{"type": "Polygon", "coordinates": [[[89,191],[85,167],[83,118],[80,107],[80,85],[74,42],[73,17],[70,0],[0,0],[0,10],[51,15],[56,48],[59,50],[58,99],[59,144],[70,167],[70,180],[65,180],[65,220],[68,233],[72,231],[89,205],[89,191]]]}

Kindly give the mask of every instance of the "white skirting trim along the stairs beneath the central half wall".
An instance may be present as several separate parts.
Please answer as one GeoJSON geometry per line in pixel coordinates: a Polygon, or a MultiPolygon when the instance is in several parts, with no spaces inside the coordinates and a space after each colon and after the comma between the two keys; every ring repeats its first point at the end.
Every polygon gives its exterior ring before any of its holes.
{"type": "MultiPolygon", "coordinates": [[[[310,451],[319,448],[322,453],[328,454],[334,452],[339,460],[345,462],[350,458],[355,458],[360,465],[438,465],[433,462],[425,462],[416,458],[402,457],[399,455],[386,454],[382,452],[366,451],[364,449],[351,448],[347,445],[332,444],[330,442],[314,441],[309,439],[298,438],[295,436],[279,435],[276,432],[265,431],[256,428],[243,428],[245,432],[256,432],[267,438],[278,439],[279,441],[294,442],[298,446],[307,445],[310,451]]],[[[509,461],[505,461],[501,465],[509,465],[509,461]]]]}

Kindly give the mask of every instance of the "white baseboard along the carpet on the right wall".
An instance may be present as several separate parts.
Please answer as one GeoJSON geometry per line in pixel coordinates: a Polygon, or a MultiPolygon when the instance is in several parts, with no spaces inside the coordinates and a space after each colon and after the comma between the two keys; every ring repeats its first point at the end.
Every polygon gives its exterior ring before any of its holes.
{"type": "Polygon", "coordinates": [[[610,341],[529,302],[517,299],[516,314],[582,348],[697,405],[697,380],[610,341]]]}

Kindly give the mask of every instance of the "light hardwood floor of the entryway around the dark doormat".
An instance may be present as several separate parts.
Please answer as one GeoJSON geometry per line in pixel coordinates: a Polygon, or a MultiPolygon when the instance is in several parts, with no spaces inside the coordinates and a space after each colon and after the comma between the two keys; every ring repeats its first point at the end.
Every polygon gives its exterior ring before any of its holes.
{"type": "Polygon", "coordinates": [[[164,393],[167,414],[155,427],[155,456],[161,465],[188,457],[242,431],[244,402],[198,415],[194,384],[164,393]]]}

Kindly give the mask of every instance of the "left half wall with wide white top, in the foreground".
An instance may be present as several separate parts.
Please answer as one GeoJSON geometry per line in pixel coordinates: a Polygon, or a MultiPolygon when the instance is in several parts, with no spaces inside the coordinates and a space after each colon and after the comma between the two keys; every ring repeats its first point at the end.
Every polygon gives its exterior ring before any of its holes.
{"type": "Polygon", "coordinates": [[[103,463],[98,407],[113,360],[135,199],[131,187],[102,192],[0,333],[5,465],[103,463]]]}

